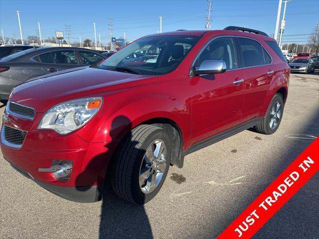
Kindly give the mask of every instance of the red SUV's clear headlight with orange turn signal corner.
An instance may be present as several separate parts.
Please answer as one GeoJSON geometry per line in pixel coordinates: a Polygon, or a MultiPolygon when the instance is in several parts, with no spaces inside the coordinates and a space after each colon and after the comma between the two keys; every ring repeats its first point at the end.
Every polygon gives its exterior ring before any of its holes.
{"type": "Polygon", "coordinates": [[[67,134],[87,123],[100,110],[103,98],[84,98],[58,104],[42,117],[38,128],[50,128],[67,134]]]}

